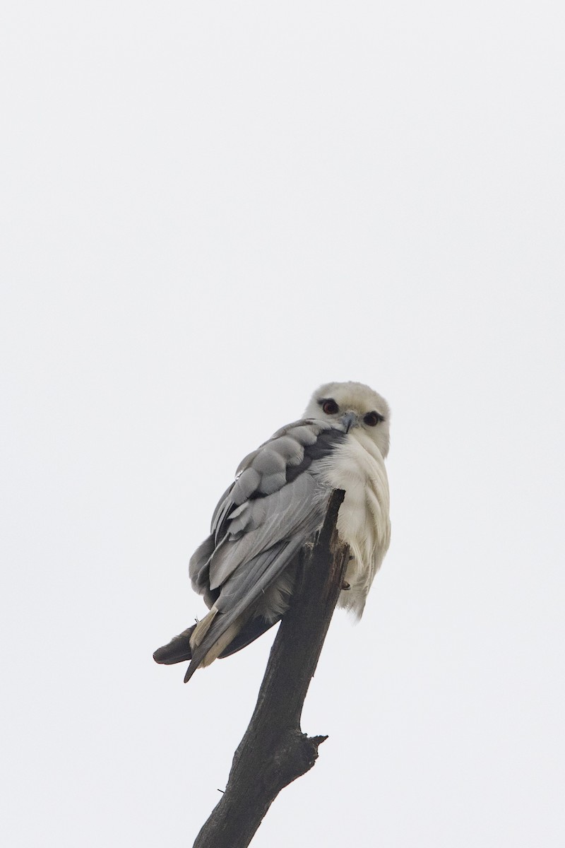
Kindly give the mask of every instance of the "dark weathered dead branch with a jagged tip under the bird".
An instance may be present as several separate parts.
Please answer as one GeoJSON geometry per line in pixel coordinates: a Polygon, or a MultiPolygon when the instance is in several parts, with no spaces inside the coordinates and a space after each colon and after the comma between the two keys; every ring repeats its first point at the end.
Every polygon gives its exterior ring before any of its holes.
{"type": "Polygon", "coordinates": [[[246,848],[280,790],[313,767],[327,739],[303,734],[300,718],[349,556],[335,529],[343,498],[341,490],[332,494],[324,527],[304,557],[302,587],[280,623],[224,795],[193,848],[246,848]]]}

